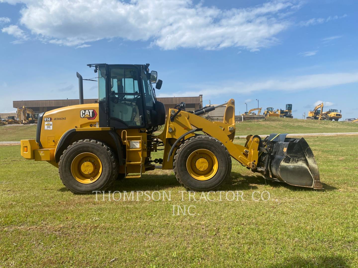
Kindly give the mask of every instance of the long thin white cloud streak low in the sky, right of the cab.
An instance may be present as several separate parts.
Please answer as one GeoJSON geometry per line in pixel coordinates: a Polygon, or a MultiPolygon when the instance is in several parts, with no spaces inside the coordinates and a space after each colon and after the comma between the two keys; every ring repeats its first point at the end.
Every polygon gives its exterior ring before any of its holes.
{"type": "Polygon", "coordinates": [[[255,91],[301,91],[358,83],[358,71],[353,73],[326,73],[267,79],[258,82],[219,81],[192,86],[192,90],[176,92],[176,96],[205,97],[216,95],[247,94],[255,91]]]}

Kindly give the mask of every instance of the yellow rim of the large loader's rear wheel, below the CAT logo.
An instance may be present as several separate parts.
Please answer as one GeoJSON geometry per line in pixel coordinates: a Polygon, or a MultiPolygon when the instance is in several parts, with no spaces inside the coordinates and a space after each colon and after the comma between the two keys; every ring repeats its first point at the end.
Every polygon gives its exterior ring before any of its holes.
{"type": "Polygon", "coordinates": [[[79,154],[72,161],[71,173],[80,183],[93,183],[102,174],[101,160],[92,153],[79,154]]]}

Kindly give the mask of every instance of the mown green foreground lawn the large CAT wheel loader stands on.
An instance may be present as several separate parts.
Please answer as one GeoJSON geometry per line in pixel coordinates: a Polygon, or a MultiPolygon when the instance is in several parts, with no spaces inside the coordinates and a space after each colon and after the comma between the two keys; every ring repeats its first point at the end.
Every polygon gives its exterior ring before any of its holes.
{"type": "Polygon", "coordinates": [[[265,182],[233,160],[222,195],[243,191],[245,201],[197,202],[181,201],[184,188],[160,170],[112,191],[171,191],[171,201],[74,195],[52,165],[1,146],[0,266],[358,267],[357,136],[306,140],[325,190],[265,182]],[[173,215],[172,205],[195,205],[195,215],[173,215]]]}

